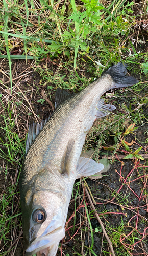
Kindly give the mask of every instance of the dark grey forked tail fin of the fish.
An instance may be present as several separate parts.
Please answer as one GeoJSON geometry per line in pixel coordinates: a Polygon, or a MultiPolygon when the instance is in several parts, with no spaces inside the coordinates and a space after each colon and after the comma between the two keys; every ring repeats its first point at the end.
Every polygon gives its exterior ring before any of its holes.
{"type": "Polygon", "coordinates": [[[122,62],[117,63],[116,65],[110,67],[108,70],[104,71],[102,75],[109,74],[113,79],[112,88],[133,86],[133,84],[138,83],[139,81],[132,77],[126,76],[127,74],[127,64],[122,62]]]}

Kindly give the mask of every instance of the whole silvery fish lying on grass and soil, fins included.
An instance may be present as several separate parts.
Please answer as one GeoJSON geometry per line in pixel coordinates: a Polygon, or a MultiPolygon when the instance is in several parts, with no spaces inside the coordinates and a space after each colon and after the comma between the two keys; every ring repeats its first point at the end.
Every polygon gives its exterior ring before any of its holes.
{"type": "Polygon", "coordinates": [[[30,125],[19,181],[26,256],[56,255],[75,180],[103,172],[103,164],[80,155],[94,121],[115,109],[101,96],[138,82],[126,66],[117,63],[78,93],[57,89],[53,115],[30,125]]]}

